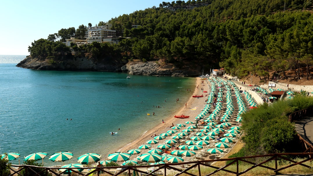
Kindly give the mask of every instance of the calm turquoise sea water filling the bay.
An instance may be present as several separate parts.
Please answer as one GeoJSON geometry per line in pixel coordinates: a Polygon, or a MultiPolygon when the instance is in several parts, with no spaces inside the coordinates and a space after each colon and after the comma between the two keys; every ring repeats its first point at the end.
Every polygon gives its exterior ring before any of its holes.
{"type": "Polygon", "coordinates": [[[85,153],[107,156],[184,107],[196,81],[16,67],[25,57],[0,55],[0,154],[20,153],[12,164],[38,152],[49,153],[44,166],[60,165],[49,160],[59,151],[74,154],[64,164],[85,153]]]}

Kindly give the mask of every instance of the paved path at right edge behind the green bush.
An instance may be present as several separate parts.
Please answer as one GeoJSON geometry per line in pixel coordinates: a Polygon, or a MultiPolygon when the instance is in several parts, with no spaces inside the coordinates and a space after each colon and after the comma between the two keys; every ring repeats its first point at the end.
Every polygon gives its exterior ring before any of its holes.
{"type": "Polygon", "coordinates": [[[295,130],[303,139],[313,145],[313,115],[308,115],[295,122],[295,130]]]}

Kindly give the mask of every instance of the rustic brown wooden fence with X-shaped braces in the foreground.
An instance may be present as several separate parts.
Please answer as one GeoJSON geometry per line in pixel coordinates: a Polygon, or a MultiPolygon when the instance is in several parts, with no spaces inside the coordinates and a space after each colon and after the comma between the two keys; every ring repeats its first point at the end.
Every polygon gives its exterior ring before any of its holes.
{"type": "MultiPolygon", "coordinates": [[[[98,176],[99,176],[99,172],[100,171],[102,171],[104,173],[107,173],[107,174],[110,174],[110,175],[113,175],[113,176],[121,175],[124,172],[128,172],[128,175],[131,176],[131,171],[132,172],[137,171],[137,172],[140,172],[140,173],[144,173],[147,176],[150,176],[150,175],[156,176],[156,172],[159,172],[161,169],[164,169],[164,174],[165,175],[167,173],[167,169],[173,169],[173,170],[176,170],[176,171],[179,172],[175,176],[178,176],[178,175],[181,175],[181,174],[188,174],[188,175],[191,175],[191,176],[201,176],[201,172],[200,172],[200,165],[201,165],[202,167],[210,167],[210,168],[216,169],[215,171],[213,171],[211,173],[205,173],[206,175],[212,175],[212,174],[217,173],[219,171],[225,171],[225,172],[228,172],[228,173],[241,175],[241,174],[244,174],[244,173],[248,172],[249,170],[251,170],[253,168],[256,168],[256,167],[267,168],[267,169],[272,170],[273,172],[277,173],[278,171],[284,170],[286,168],[290,168],[290,167],[295,166],[295,165],[301,165],[301,166],[310,168],[310,166],[304,164],[304,162],[312,160],[313,159],[311,157],[312,154],[313,153],[273,153],[273,154],[248,156],[248,157],[238,157],[238,158],[223,158],[223,159],[213,159],[213,160],[210,159],[210,160],[192,161],[192,162],[184,162],[184,163],[156,164],[156,165],[153,165],[153,167],[159,167],[159,168],[157,168],[156,170],[154,170],[154,171],[152,171],[150,173],[142,171],[139,168],[152,167],[151,165],[143,165],[143,166],[112,166],[112,167],[84,167],[82,169],[94,169],[94,170],[92,170],[90,173],[86,173],[86,174],[79,173],[79,172],[76,172],[76,171],[73,171],[73,170],[72,170],[72,172],[77,173],[79,176],[88,176],[88,175],[90,175],[92,173],[97,173],[98,176]],[[308,157],[304,158],[300,162],[297,162],[297,161],[293,161],[293,160],[291,160],[289,158],[286,158],[285,157],[286,155],[289,155],[289,156],[308,156],[308,157]],[[259,163],[253,163],[253,162],[250,162],[250,161],[246,160],[246,159],[251,159],[251,158],[264,158],[264,161],[260,161],[259,163]],[[277,166],[277,160],[278,159],[284,159],[286,161],[291,162],[292,164],[289,164],[289,165],[287,165],[285,167],[278,168],[278,166],[277,166]],[[275,168],[272,168],[272,167],[264,165],[265,163],[268,163],[268,162],[273,161],[273,160],[275,160],[275,168]],[[229,164],[221,167],[221,168],[216,167],[216,166],[212,166],[210,164],[207,164],[207,163],[210,163],[210,162],[220,162],[220,161],[231,161],[231,162],[229,164]],[[252,166],[250,168],[247,168],[244,171],[239,171],[239,161],[244,162],[244,163],[248,163],[248,164],[250,164],[252,166]],[[183,169],[182,165],[185,165],[185,164],[190,164],[191,166],[186,168],[186,169],[183,169]],[[233,164],[236,164],[237,170],[236,171],[228,170],[227,168],[229,166],[233,165],[233,164]],[[180,166],[180,167],[177,168],[175,166],[180,166]],[[123,167],[124,169],[122,169],[118,173],[110,173],[109,170],[108,170],[108,169],[112,169],[112,168],[116,169],[116,168],[121,168],[121,167],[123,167]],[[198,175],[188,172],[192,168],[198,168],[198,175]]],[[[59,167],[59,168],[57,168],[57,167],[38,167],[38,166],[31,166],[31,165],[14,165],[14,164],[12,164],[12,167],[10,169],[13,172],[11,172],[11,174],[9,176],[13,176],[14,174],[18,174],[19,176],[26,176],[26,175],[22,175],[20,173],[20,171],[22,171],[23,169],[30,169],[30,170],[32,170],[34,172],[34,170],[35,170],[34,168],[41,168],[42,169],[42,171],[40,171],[39,173],[36,173],[35,176],[37,176],[37,175],[38,176],[48,176],[48,172],[50,173],[49,175],[54,174],[55,176],[61,176],[65,172],[64,171],[62,173],[55,173],[53,171],[53,169],[61,169],[61,167],[59,167]],[[19,169],[18,170],[14,170],[14,168],[12,168],[12,167],[18,167],[19,169]],[[46,173],[46,175],[42,174],[44,172],[46,173]]],[[[64,169],[64,168],[62,168],[62,169],[64,169]]],[[[73,169],[73,168],[68,168],[68,169],[73,169]]]]}

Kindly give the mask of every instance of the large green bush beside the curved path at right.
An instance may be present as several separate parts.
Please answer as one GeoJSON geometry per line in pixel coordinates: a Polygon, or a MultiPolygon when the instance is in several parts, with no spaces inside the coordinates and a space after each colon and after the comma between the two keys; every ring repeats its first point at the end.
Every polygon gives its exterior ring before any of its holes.
{"type": "Polygon", "coordinates": [[[288,121],[288,116],[305,108],[313,108],[313,99],[305,94],[298,94],[292,100],[278,101],[272,106],[265,103],[243,114],[242,127],[245,135],[242,140],[245,145],[230,158],[302,152],[296,139],[294,126],[288,121]]]}

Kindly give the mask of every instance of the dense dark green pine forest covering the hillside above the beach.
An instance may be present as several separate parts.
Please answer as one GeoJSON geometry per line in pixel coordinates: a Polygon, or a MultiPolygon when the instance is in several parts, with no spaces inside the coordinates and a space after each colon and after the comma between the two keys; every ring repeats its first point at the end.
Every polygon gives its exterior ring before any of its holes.
{"type": "MultiPolygon", "coordinates": [[[[309,65],[313,60],[313,15],[306,8],[311,6],[312,0],[162,2],[158,8],[109,20],[117,34],[124,37],[118,45],[109,47],[110,52],[105,46],[106,53],[102,53],[103,49],[96,44],[96,49],[73,45],[73,50],[76,56],[92,50],[98,60],[113,53],[111,58],[118,56],[125,60],[160,58],[166,63],[194,62],[204,70],[224,67],[231,75],[253,74],[265,80],[269,78],[269,70],[285,75],[286,70],[294,69],[300,78],[299,69],[304,67],[301,74],[309,78],[309,65]],[[131,25],[140,26],[132,28],[131,25]]],[[[104,24],[100,21],[97,25],[104,24]]],[[[85,31],[84,25],[77,30],[74,27],[61,29],[50,34],[48,40],[82,39],[85,31]]],[[[60,53],[38,52],[33,47],[32,44],[31,54],[60,53]]]]}

